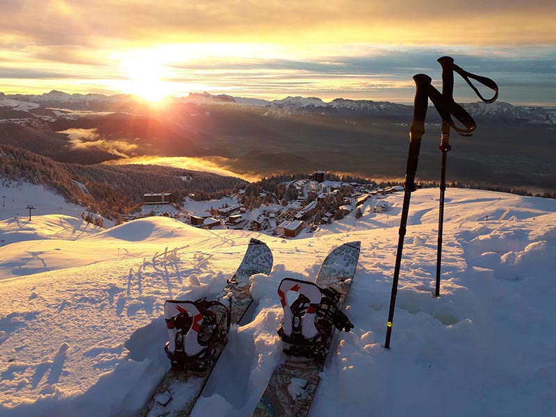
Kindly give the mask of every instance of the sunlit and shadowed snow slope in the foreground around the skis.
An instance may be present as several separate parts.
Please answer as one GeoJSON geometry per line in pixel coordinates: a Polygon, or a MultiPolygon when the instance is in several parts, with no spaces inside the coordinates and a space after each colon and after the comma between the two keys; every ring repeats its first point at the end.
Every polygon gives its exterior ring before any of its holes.
{"type": "Polygon", "coordinates": [[[164,301],[217,297],[250,237],[269,245],[275,266],[252,277],[254,308],[232,327],[192,416],[251,415],[286,358],[279,282],[315,279],[327,253],[353,240],[361,256],[345,309],[355,327],[334,338],[311,416],[553,414],[556,201],[449,188],[434,298],[439,190],[416,191],[386,350],[402,198],[388,195],[386,213],[369,199],[361,219],[352,212],[288,240],[163,217],[95,231],[52,213],[18,218],[17,231],[4,217],[0,415],[136,416],[169,367],[164,301]]]}

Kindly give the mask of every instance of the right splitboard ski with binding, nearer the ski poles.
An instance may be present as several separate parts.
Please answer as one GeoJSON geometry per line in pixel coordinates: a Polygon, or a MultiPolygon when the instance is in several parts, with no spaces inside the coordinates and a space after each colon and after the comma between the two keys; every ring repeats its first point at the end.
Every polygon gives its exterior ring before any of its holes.
{"type": "Polygon", "coordinates": [[[322,262],[315,283],[283,279],[279,296],[284,323],[278,334],[291,355],[277,366],[256,405],[253,417],[306,417],[325,365],[334,327],[349,332],[353,325],[342,313],[355,275],[361,242],[345,243],[322,262]],[[300,293],[288,304],[287,292],[300,293]]]}

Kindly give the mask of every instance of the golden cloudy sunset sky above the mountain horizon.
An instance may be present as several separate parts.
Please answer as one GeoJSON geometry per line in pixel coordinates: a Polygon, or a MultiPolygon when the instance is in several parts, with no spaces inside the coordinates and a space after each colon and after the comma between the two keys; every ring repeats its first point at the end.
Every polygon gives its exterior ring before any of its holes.
{"type": "MultiPolygon", "coordinates": [[[[502,101],[556,106],[553,0],[1,0],[0,15],[6,94],[409,103],[411,77],[440,88],[449,55],[502,101]]],[[[455,98],[477,101],[461,79],[455,98]]]]}

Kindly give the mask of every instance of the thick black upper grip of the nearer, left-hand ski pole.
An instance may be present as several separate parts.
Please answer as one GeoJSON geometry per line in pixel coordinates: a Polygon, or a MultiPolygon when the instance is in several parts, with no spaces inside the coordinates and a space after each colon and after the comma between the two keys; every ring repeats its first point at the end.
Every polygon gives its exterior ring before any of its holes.
{"type": "Polygon", "coordinates": [[[425,117],[427,117],[427,106],[429,103],[428,90],[431,79],[426,74],[417,74],[413,77],[416,85],[413,121],[409,129],[409,154],[407,155],[407,169],[405,171],[405,190],[412,192],[416,190],[415,175],[419,162],[419,151],[421,138],[425,134],[425,117]]]}

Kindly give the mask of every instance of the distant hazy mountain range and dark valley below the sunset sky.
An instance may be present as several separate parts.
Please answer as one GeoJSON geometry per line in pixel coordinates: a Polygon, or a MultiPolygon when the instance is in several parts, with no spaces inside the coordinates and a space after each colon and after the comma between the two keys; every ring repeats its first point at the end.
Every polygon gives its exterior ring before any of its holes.
{"type": "MultiPolygon", "coordinates": [[[[539,152],[553,149],[556,108],[503,101],[463,106],[477,131],[471,138],[452,134],[449,181],[556,190],[552,154],[539,152]]],[[[194,156],[238,175],[330,170],[402,179],[412,115],[405,104],[341,98],[266,101],[204,92],[155,106],[133,95],[0,93],[0,143],[79,163],[194,156]]],[[[419,179],[439,177],[440,122],[430,108],[419,179]]]]}

